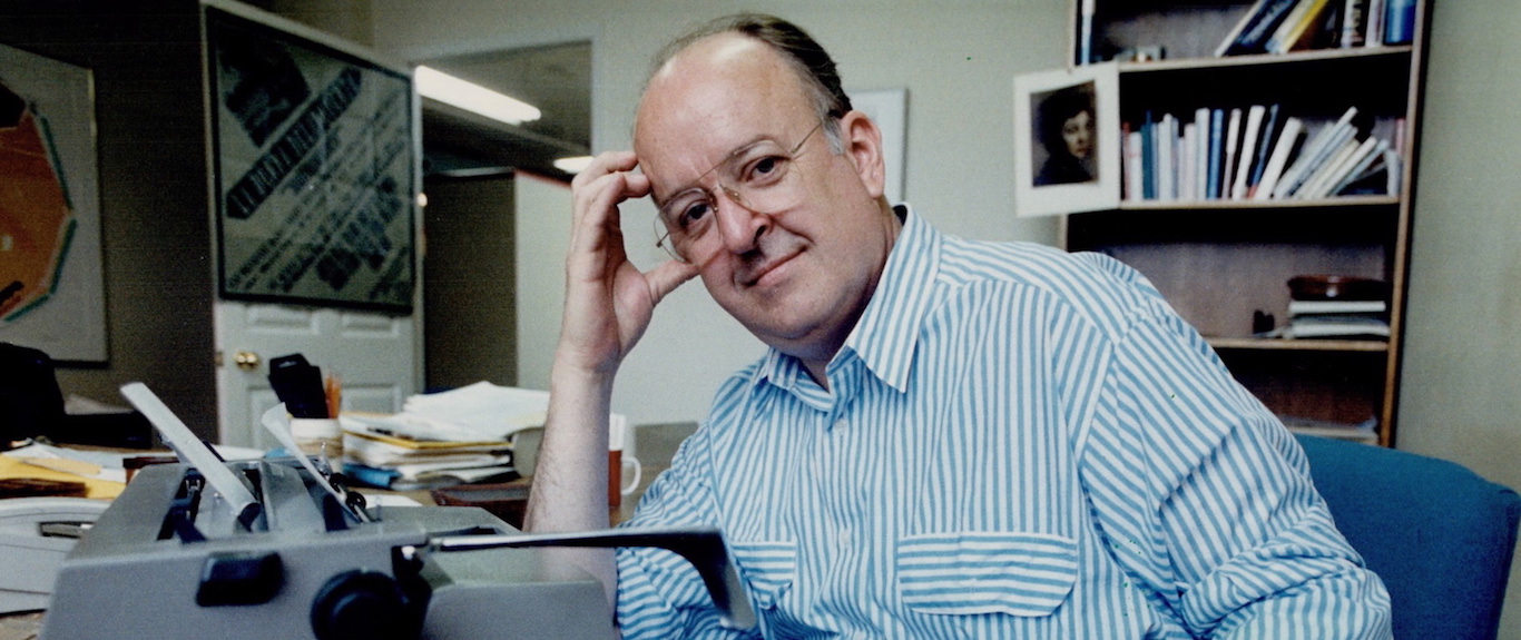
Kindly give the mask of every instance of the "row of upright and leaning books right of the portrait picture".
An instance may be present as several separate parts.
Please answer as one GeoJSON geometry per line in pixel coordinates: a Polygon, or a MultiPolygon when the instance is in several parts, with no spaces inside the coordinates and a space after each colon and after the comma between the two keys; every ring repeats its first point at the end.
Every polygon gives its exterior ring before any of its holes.
{"type": "Polygon", "coordinates": [[[1399,193],[1404,120],[1396,120],[1393,140],[1384,140],[1360,132],[1355,117],[1352,106],[1311,132],[1279,105],[1200,108],[1192,120],[1147,111],[1139,125],[1121,125],[1121,198],[1192,202],[1399,193]]]}

